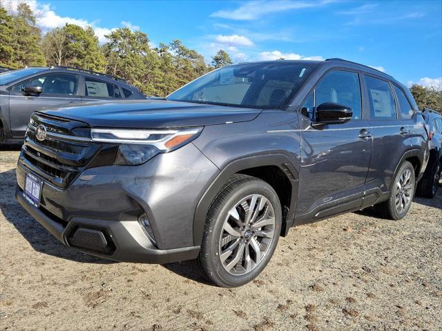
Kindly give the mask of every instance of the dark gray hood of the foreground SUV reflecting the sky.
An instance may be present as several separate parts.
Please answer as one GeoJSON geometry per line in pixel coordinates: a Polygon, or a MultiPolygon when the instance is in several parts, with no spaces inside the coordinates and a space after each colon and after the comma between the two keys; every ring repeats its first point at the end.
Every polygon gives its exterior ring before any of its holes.
{"type": "Polygon", "coordinates": [[[171,128],[251,121],[261,110],[166,100],[133,100],[70,103],[39,112],[82,121],[90,126],[171,128]]]}

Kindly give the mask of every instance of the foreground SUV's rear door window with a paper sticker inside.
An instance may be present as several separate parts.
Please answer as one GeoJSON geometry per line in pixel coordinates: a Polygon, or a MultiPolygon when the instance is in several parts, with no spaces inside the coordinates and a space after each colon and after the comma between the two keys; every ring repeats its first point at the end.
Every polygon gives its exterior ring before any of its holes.
{"type": "Polygon", "coordinates": [[[396,119],[396,104],[390,84],[382,79],[365,76],[367,82],[370,117],[372,119],[396,119]]]}

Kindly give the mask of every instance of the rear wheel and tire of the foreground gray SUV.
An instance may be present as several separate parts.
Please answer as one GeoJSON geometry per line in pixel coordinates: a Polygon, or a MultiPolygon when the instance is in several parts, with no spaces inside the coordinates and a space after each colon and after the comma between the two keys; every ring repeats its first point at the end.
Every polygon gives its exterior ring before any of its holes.
{"type": "Polygon", "coordinates": [[[390,197],[374,206],[378,216],[394,221],[403,219],[412,205],[416,177],[412,163],[404,161],[396,172],[390,188],[390,197]]]}

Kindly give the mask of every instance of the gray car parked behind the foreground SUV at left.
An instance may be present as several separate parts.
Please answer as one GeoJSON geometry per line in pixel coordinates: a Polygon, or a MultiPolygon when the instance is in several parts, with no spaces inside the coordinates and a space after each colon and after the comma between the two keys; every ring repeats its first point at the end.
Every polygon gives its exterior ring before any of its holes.
{"type": "Polygon", "coordinates": [[[38,108],[90,100],[144,99],[108,74],[70,67],[24,68],[0,74],[0,143],[23,141],[38,108]]]}

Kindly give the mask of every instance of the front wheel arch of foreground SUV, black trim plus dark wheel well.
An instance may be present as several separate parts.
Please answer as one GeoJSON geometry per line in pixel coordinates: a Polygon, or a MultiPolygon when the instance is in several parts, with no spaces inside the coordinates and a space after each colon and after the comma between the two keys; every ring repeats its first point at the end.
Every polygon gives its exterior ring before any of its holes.
{"type": "Polygon", "coordinates": [[[281,208],[284,208],[282,203],[289,201],[289,208],[285,219],[283,217],[281,235],[285,236],[294,221],[294,215],[296,210],[296,197],[298,195],[298,171],[294,168],[293,162],[290,161],[286,154],[274,153],[274,154],[259,154],[241,159],[236,159],[228,163],[218,176],[206,189],[195,210],[195,217],[193,219],[193,243],[194,245],[200,245],[202,243],[202,236],[204,232],[204,225],[206,223],[207,213],[211,207],[211,204],[218,196],[220,190],[229,178],[233,174],[249,174],[250,176],[257,177],[269,183],[273,189],[276,190],[278,198],[281,201],[281,208]],[[269,171],[273,170],[273,171],[269,171]],[[284,191],[284,185],[278,186],[278,180],[275,176],[284,175],[282,179],[283,183],[290,183],[290,192],[284,191]],[[272,185],[273,184],[273,185],[272,185]],[[285,194],[284,194],[285,193],[285,194]]]}

